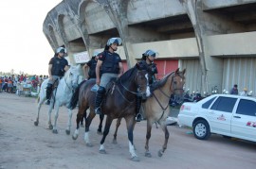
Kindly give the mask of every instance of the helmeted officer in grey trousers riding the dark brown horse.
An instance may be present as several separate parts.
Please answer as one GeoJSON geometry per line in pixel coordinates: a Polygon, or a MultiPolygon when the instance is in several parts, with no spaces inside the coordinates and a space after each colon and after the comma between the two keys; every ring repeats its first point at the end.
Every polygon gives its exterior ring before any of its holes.
{"type": "Polygon", "coordinates": [[[96,114],[101,114],[102,97],[105,94],[105,88],[109,80],[113,77],[119,77],[123,74],[121,59],[119,54],[115,53],[120,44],[120,38],[109,39],[105,45],[104,51],[101,53],[98,59],[96,65],[96,84],[98,84],[100,87],[96,94],[96,114]]]}

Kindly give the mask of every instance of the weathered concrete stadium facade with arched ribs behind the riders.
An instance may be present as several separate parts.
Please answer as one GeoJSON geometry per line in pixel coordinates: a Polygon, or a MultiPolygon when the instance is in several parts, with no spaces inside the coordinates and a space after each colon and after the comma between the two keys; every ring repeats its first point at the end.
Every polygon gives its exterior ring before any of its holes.
{"type": "Polygon", "coordinates": [[[66,47],[71,65],[120,37],[126,69],[154,49],[159,77],[186,68],[191,92],[233,84],[256,92],[256,0],[64,0],[43,31],[52,49],[66,47]]]}

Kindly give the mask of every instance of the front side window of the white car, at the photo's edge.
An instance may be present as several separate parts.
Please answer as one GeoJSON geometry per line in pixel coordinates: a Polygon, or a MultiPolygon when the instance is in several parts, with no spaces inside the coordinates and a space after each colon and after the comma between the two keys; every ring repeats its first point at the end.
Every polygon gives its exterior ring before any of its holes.
{"type": "Polygon", "coordinates": [[[249,116],[256,116],[256,102],[252,100],[241,99],[238,104],[236,113],[249,116]]]}

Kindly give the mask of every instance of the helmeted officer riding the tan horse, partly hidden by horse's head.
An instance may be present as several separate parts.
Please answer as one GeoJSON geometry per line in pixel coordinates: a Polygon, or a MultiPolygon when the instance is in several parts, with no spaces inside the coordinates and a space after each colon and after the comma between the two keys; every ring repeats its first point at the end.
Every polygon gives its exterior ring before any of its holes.
{"type": "MultiPolygon", "coordinates": [[[[157,68],[156,64],[154,63],[155,57],[158,55],[153,50],[147,50],[145,53],[142,54],[142,61],[145,61],[148,65],[148,74],[149,74],[149,85],[152,85],[155,80],[157,80],[157,68]]],[[[137,96],[137,108],[136,108],[136,120],[137,122],[140,122],[142,120],[142,114],[139,112],[140,106],[141,106],[141,97],[137,96]]]]}

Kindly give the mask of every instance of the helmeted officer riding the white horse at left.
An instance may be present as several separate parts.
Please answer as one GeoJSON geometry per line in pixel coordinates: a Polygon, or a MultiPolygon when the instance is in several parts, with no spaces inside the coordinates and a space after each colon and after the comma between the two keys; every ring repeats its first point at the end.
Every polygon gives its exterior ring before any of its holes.
{"type": "Polygon", "coordinates": [[[50,103],[53,83],[64,76],[64,72],[68,70],[68,62],[64,59],[65,48],[59,47],[52,59],[49,61],[48,74],[49,80],[46,88],[46,105],[50,103]]]}

